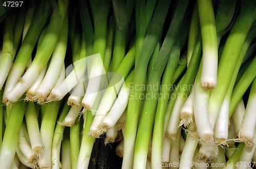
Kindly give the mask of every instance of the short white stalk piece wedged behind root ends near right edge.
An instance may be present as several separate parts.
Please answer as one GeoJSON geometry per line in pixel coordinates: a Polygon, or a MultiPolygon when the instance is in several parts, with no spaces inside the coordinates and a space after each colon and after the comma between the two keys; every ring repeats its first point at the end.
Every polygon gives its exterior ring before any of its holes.
{"type": "Polygon", "coordinates": [[[231,118],[234,122],[233,123],[234,124],[234,132],[236,132],[237,137],[238,137],[239,131],[241,129],[244,115],[245,115],[245,106],[244,106],[243,99],[241,99],[231,116],[231,118]]]}

